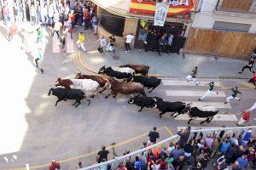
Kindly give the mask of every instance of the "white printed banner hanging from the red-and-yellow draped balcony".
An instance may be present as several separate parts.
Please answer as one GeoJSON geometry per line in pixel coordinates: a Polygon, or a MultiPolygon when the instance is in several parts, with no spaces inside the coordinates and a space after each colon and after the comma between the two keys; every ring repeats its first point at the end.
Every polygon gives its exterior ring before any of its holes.
{"type": "Polygon", "coordinates": [[[154,14],[154,26],[164,26],[169,5],[166,3],[156,3],[154,14]]]}

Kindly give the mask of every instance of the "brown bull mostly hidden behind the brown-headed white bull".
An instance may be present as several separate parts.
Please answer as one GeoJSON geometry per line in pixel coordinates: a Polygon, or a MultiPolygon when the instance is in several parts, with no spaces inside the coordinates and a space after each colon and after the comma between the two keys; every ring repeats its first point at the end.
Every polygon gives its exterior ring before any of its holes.
{"type": "Polygon", "coordinates": [[[105,91],[106,89],[108,89],[108,87],[109,87],[108,77],[104,78],[101,76],[94,76],[94,75],[82,75],[82,73],[79,72],[75,78],[76,79],[90,79],[90,80],[94,80],[94,81],[98,82],[100,84],[100,87],[103,88],[102,91],[99,92],[100,94],[103,91],[105,91]]]}

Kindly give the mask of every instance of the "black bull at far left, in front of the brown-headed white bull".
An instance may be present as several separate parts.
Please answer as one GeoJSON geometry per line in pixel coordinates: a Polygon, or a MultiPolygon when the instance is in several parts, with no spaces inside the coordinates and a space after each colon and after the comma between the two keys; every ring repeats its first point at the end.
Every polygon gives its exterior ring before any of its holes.
{"type": "MultiPolygon", "coordinates": [[[[58,99],[55,103],[55,106],[61,101],[67,99],[75,99],[76,102],[73,105],[76,105],[75,107],[78,107],[81,104],[82,99],[86,99],[84,92],[79,89],[68,89],[68,88],[49,88],[48,95],[53,94],[58,99]]],[[[90,105],[90,100],[86,99],[88,101],[88,105],[90,105]]]]}

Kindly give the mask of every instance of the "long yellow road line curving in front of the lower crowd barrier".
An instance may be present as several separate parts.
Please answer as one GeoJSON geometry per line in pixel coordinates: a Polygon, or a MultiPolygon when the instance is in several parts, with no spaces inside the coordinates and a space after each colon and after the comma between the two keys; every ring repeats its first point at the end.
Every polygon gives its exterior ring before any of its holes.
{"type": "MultiPolygon", "coordinates": [[[[165,127],[159,127],[158,129],[163,129],[165,127]]],[[[127,143],[130,143],[134,140],[137,140],[137,139],[140,139],[140,138],[143,138],[145,136],[148,136],[148,133],[143,133],[143,134],[140,134],[134,138],[131,138],[131,139],[127,139],[127,140],[124,140],[122,142],[119,142],[118,144],[114,144],[114,145],[110,145],[108,146],[106,149],[107,150],[110,150],[112,148],[116,148],[118,146],[121,146],[121,145],[124,145],[124,144],[127,144],[127,143]]],[[[89,153],[86,153],[86,154],[83,154],[83,155],[79,155],[79,156],[73,156],[73,157],[69,157],[67,159],[63,159],[63,160],[56,160],[56,161],[59,161],[60,163],[63,163],[63,162],[67,162],[67,161],[75,161],[75,160],[78,160],[78,159],[81,159],[81,158],[84,158],[84,157],[88,157],[88,156],[93,156],[93,155],[96,155],[96,153],[98,152],[99,150],[95,150],[95,151],[91,151],[89,153]]],[[[44,164],[41,164],[41,165],[36,165],[36,166],[32,166],[32,167],[29,167],[30,169],[38,169],[38,168],[42,168],[42,167],[48,167],[49,166],[49,163],[44,163],[44,164]]],[[[9,170],[24,170],[24,167],[19,167],[19,168],[12,168],[12,169],[9,169],[9,170]]]]}

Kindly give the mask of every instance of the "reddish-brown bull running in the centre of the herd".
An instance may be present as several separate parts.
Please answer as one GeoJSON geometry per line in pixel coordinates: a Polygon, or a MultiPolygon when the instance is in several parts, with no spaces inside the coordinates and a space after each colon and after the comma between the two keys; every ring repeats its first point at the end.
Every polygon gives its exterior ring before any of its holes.
{"type": "MultiPolygon", "coordinates": [[[[112,77],[109,77],[108,81],[110,82],[111,89],[111,93],[108,94],[108,96],[113,95],[113,98],[115,98],[117,94],[143,94],[144,96],[146,96],[142,83],[118,82],[112,77]]],[[[106,96],[105,98],[107,99],[108,96],[106,96]]]]}

